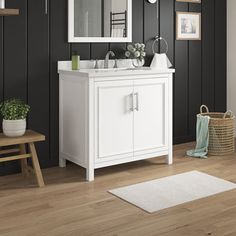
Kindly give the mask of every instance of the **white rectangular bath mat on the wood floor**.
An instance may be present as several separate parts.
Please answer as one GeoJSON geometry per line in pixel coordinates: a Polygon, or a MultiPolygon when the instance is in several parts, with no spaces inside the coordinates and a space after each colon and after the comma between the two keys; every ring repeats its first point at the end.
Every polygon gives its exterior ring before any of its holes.
{"type": "Polygon", "coordinates": [[[109,192],[149,213],[236,188],[236,184],[198,171],[173,175],[109,192]]]}

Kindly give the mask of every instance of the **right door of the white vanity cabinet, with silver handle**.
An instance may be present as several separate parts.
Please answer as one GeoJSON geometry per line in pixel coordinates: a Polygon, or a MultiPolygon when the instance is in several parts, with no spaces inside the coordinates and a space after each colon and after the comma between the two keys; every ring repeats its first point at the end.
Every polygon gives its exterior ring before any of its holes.
{"type": "Polygon", "coordinates": [[[134,82],[134,156],[164,151],[168,146],[168,79],[134,82]]]}

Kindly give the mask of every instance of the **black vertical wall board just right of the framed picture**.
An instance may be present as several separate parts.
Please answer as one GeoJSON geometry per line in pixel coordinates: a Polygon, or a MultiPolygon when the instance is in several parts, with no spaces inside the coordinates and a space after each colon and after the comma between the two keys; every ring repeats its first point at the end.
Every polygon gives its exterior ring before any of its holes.
{"type": "Polygon", "coordinates": [[[215,109],[215,1],[202,0],[202,103],[215,109]]]}

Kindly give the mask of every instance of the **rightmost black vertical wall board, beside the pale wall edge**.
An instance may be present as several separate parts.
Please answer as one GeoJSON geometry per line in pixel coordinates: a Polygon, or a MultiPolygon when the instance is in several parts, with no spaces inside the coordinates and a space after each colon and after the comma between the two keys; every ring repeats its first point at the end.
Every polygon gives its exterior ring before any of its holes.
{"type": "Polygon", "coordinates": [[[215,0],[215,110],[226,108],[227,1],[215,0]]]}

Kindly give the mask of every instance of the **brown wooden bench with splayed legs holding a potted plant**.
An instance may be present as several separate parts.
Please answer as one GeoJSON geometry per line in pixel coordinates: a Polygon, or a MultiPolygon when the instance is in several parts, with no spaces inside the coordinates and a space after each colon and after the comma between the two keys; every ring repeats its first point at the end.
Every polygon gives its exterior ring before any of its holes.
{"type": "Polygon", "coordinates": [[[18,138],[8,138],[3,133],[0,133],[0,147],[16,146],[16,148],[0,150],[0,155],[12,154],[12,156],[0,157],[0,163],[20,160],[23,175],[28,177],[34,169],[38,185],[43,187],[45,184],[34,143],[44,140],[44,135],[32,130],[27,130],[24,136],[18,138]],[[29,153],[26,152],[26,145],[29,147],[29,153]],[[33,169],[28,166],[28,158],[32,159],[33,169]]]}

